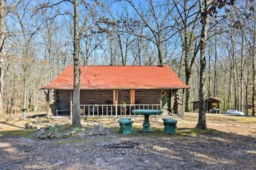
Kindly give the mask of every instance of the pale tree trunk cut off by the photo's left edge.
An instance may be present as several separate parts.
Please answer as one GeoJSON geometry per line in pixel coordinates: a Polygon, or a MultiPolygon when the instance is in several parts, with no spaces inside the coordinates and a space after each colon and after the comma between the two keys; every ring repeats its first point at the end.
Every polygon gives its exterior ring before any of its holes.
{"type": "Polygon", "coordinates": [[[5,40],[5,0],[0,0],[0,115],[3,113],[3,88],[4,88],[4,40],[5,40]]]}

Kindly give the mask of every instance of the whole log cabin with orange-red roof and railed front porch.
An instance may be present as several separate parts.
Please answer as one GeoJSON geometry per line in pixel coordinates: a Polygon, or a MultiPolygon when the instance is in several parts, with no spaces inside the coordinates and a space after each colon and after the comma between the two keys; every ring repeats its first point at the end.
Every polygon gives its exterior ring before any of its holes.
{"type": "MultiPolygon", "coordinates": [[[[52,90],[52,114],[72,115],[73,66],[66,67],[47,90],[52,90]]],[[[190,88],[169,66],[80,66],[81,117],[132,115],[133,109],[165,109],[183,114],[179,89],[190,88]]]]}

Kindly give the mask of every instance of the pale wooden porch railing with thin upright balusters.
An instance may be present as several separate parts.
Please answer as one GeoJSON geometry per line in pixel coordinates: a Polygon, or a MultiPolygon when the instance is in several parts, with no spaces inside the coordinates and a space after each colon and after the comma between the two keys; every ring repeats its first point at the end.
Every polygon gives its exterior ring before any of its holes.
{"type": "MultiPolygon", "coordinates": [[[[73,107],[73,106],[72,106],[73,107]]],[[[80,104],[81,117],[118,117],[132,116],[134,109],[162,109],[162,101],[160,104],[80,104]]],[[[73,110],[73,109],[72,109],[73,110]]],[[[56,113],[58,116],[58,111],[56,113]]],[[[72,116],[72,114],[71,114],[72,116]]]]}

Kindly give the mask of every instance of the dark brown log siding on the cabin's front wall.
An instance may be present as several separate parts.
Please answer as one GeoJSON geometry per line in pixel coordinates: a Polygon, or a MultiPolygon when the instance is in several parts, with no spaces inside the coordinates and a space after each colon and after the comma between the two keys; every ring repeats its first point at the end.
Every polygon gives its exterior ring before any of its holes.
{"type": "MultiPolygon", "coordinates": [[[[80,90],[80,104],[115,104],[115,97],[117,93],[115,90],[80,90]]],[[[130,90],[131,102],[134,104],[159,104],[159,90],[158,89],[143,89],[130,90]]],[[[54,90],[54,104],[59,114],[69,114],[70,110],[70,90],[54,90]]],[[[81,109],[83,107],[81,106],[81,109]]],[[[94,108],[96,109],[96,107],[94,108]]],[[[99,108],[101,111],[102,108],[99,108]]],[[[111,107],[108,107],[110,113],[111,107]]],[[[112,108],[113,109],[113,108],[112,108]]],[[[92,112],[92,108],[90,112],[92,112]]],[[[82,111],[84,112],[84,110],[82,111]]],[[[85,112],[88,112],[88,107],[85,107],[85,112]]],[[[106,107],[104,107],[104,113],[106,107]]],[[[119,110],[118,110],[119,112],[119,110]]]]}

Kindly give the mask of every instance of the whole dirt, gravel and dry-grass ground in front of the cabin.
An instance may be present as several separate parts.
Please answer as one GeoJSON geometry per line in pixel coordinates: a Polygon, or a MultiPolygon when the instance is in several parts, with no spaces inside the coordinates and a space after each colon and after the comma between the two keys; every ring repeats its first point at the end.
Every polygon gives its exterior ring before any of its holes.
{"type": "Polygon", "coordinates": [[[38,127],[67,124],[68,118],[0,120],[0,169],[256,169],[256,117],[207,115],[207,130],[194,129],[197,114],[178,120],[177,134],[163,132],[162,117],[151,117],[154,132],[143,133],[133,117],[133,134],[122,135],[116,118],[82,119],[87,129],[101,124],[107,135],[38,140],[38,127]]]}

